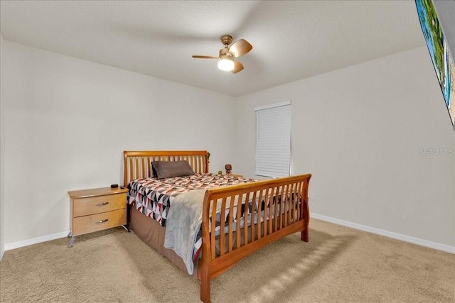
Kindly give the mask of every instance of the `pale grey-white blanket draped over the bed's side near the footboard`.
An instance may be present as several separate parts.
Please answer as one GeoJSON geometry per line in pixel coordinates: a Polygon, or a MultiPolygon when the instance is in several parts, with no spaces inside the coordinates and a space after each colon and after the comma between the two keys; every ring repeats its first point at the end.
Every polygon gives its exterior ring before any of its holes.
{"type": "Polygon", "coordinates": [[[202,224],[205,189],[178,194],[173,199],[166,221],[164,247],[173,249],[193,274],[193,248],[202,224]]]}

